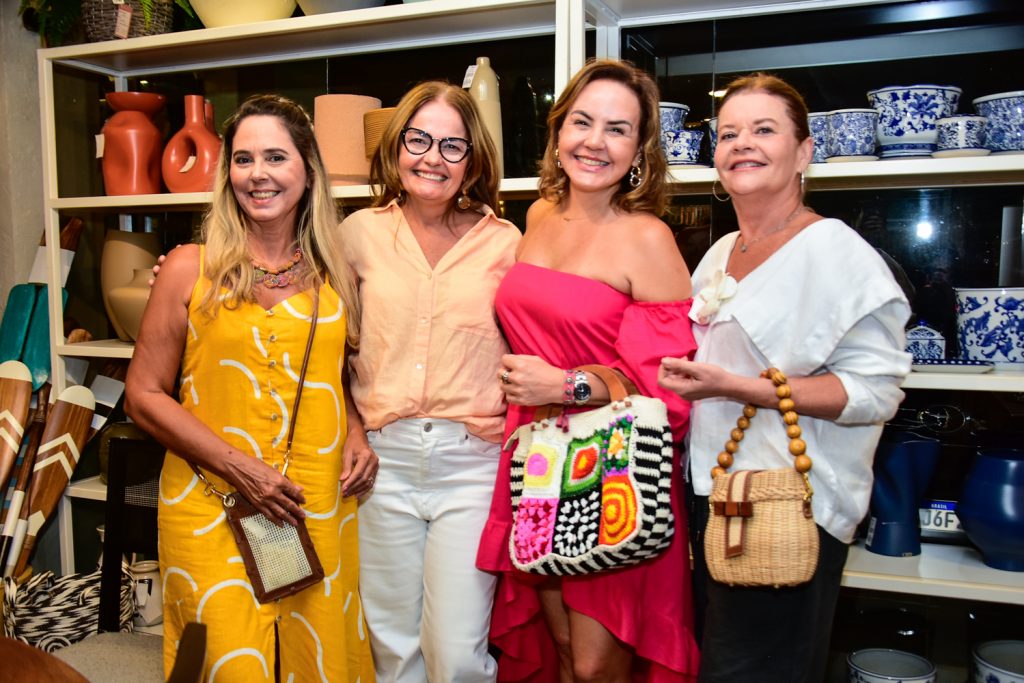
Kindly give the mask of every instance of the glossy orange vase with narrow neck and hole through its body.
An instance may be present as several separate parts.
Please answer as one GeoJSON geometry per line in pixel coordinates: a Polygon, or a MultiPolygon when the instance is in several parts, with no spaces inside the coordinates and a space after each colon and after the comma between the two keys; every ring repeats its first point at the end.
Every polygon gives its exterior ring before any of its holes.
{"type": "Polygon", "coordinates": [[[164,184],[172,193],[208,193],[213,188],[220,138],[210,132],[203,95],[185,95],[185,124],[164,148],[164,184]]]}

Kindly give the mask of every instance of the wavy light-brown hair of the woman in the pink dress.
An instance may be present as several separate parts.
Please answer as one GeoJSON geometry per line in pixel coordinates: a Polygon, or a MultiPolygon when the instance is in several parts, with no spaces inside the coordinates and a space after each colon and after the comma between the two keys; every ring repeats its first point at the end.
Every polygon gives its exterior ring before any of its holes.
{"type": "Polygon", "coordinates": [[[560,204],[569,193],[569,179],[558,167],[558,134],[577,98],[595,81],[614,81],[633,91],[640,101],[640,176],[637,187],[624,175],[618,189],[611,199],[620,210],[627,213],[649,212],[660,216],[667,203],[666,173],[669,170],[662,153],[662,122],[657,102],[657,85],[645,72],[629,61],[618,59],[591,59],[569,80],[558,96],[558,101],[548,114],[548,145],[541,160],[541,197],[560,204]]]}

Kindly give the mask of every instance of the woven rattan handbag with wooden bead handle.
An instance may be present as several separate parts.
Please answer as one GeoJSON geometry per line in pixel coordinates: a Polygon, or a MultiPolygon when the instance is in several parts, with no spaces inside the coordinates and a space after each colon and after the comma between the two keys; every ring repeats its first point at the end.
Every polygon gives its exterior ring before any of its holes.
{"type": "Polygon", "coordinates": [[[811,459],[800,438],[785,375],[771,368],[779,413],[790,437],[792,468],[728,473],[743,431],[757,413],[743,407],[725,450],[712,470],[711,515],[705,556],[712,578],[733,586],[797,586],[810,581],[818,564],[818,529],[811,512],[811,459]]]}

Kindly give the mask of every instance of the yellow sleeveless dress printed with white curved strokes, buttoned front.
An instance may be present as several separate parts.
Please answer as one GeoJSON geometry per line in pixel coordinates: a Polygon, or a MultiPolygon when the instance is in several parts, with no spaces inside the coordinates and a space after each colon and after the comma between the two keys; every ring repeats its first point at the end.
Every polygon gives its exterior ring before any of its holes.
{"type": "MultiPolygon", "coordinates": [[[[202,262],[202,256],[201,256],[202,262]]],[[[280,467],[309,319],[310,292],[269,310],[243,303],[199,310],[210,282],[201,273],[188,306],[181,404],[232,446],[280,467]]],[[[204,680],[372,683],[373,661],[357,590],[356,501],[338,484],[345,439],[345,314],[325,285],[299,407],[288,476],[303,487],[306,523],[324,565],[323,583],[278,602],[253,597],[238,547],[215,496],[169,453],[160,480],[160,565],[164,579],[164,670],[184,625],[208,627],[204,680]]],[[[221,490],[231,487],[204,472],[221,490]]]]}

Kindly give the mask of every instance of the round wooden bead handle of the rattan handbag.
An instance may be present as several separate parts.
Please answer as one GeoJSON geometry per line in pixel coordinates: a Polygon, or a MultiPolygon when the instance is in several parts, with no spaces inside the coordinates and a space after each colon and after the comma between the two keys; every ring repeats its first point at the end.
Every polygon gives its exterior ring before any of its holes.
{"type": "MultiPolygon", "coordinates": [[[[811,498],[814,496],[814,489],[811,487],[811,479],[808,472],[811,471],[811,458],[807,455],[807,443],[801,438],[803,432],[800,429],[800,425],[797,424],[799,416],[796,411],[796,403],[793,401],[793,390],[790,388],[788,380],[782,371],[777,368],[769,368],[761,373],[761,377],[771,380],[772,384],[775,385],[775,396],[778,397],[778,412],[782,416],[782,422],[785,423],[785,435],[790,437],[790,455],[793,456],[793,468],[803,477],[804,479],[804,516],[811,517],[811,498]]],[[[746,403],[743,405],[743,414],[736,420],[736,426],[729,433],[729,440],[725,442],[725,450],[718,454],[718,465],[711,470],[712,479],[725,475],[728,473],[728,469],[732,467],[732,463],[735,460],[734,456],[739,450],[739,442],[743,440],[743,432],[751,426],[751,420],[757,415],[758,409],[753,403],[746,403]]],[[[741,472],[737,472],[742,474],[741,472]]],[[[732,482],[735,486],[738,486],[744,492],[750,490],[751,481],[749,476],[743,477],[733,477],[732,482]]],[[[731,487],[731,486],[730,486],[731,487]]],[[[730,507],[750,507],[751,503],[748,501],[748,496],[745,493],[737,492],[737,496],[733,498],[730,495],[731,500],[742,501],[730,505],[730,507]]],[[[738,514],[739,516],[750,516],[752,514],[751,510],[737,509],[734,511],[722,511],[718,514],[733,515],[738,514]]]]}

